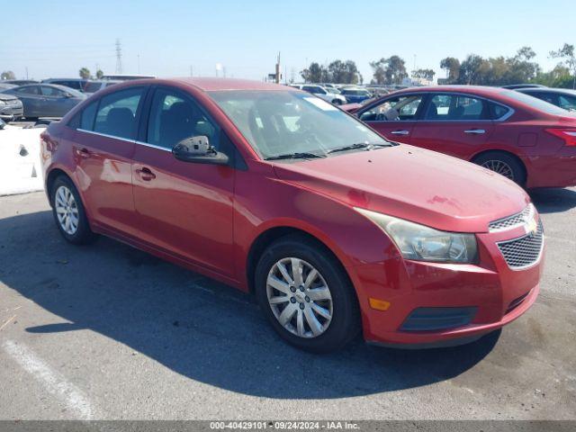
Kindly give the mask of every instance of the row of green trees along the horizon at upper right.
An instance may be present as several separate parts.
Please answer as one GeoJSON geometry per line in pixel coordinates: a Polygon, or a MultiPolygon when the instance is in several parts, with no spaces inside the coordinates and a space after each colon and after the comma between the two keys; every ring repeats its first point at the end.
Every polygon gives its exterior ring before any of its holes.
{"type": "MultiPolygon", "coordinates": [[[[576,52],[574,45],[565,43],[561,49],[550,51],[549,57],[559,63],[553,70],[544,72],[534,58],[536,52],[530,47],[518,49],[511,57],[482,58],[469,54],[462,61],[446,57],[440,61],[440,67],[446,71],[446,78],[440,78],[439,84],[463,85],[509,85],[518,83],[536,83],[554,87],[576,88],[576,52]]],[[[398,55],[380,58],[370,62],[373,76],[370,84],[401,85],[409,76],[406,62],[398,55]]],[[[412,70],[414,79],[432,81],[436,72],[431,68],[412,70]]],[[[301,76],[308,83],[362,84],[363,76],[352,60],[335,60],[328,66],[312,62],[302,70],[301,76]]]]}

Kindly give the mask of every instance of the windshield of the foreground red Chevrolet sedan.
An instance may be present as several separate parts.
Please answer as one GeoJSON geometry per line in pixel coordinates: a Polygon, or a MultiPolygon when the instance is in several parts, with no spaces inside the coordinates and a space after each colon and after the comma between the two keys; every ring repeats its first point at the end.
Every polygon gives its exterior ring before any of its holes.
{"type": "Polygon", "coordinates": [[[286,91],[210,92],[262,158],[327,154],[358,143],[388,144],[347,113],[310,94],[286,91]]]}

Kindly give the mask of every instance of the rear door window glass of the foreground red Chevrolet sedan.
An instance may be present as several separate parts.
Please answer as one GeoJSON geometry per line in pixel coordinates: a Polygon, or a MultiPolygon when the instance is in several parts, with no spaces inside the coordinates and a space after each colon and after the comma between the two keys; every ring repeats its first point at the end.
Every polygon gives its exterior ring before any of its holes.
{"type": "Polygon", "coordinates": [[[136,139],[136,112],[143,92],[142,87],[137,87],[103,96],[96,112],[94,131],[136,139]]]}

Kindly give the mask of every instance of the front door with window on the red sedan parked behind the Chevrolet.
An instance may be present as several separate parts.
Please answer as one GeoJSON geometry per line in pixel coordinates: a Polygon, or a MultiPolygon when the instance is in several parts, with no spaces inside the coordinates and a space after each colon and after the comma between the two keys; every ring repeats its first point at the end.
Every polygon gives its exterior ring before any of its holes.
{"type": "Polygon", "coordinates": [[[400,94],[371,105],[358,114],[361,121],[384,138],[411,143],[412,130],[421,115],[426,94],[400,94]]]}

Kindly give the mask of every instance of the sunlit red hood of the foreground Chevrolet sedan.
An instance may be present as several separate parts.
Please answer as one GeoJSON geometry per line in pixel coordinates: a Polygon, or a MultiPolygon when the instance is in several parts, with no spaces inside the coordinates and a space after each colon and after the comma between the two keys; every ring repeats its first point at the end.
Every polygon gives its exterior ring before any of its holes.
{"type": "Polygon", "coordinates": [[[399,145],[275,164],[276,175],[347,205],[429,227],[486,232],[530,199],[517,184],[481,166],[399,145]]]}

